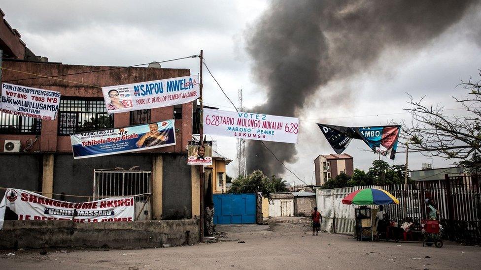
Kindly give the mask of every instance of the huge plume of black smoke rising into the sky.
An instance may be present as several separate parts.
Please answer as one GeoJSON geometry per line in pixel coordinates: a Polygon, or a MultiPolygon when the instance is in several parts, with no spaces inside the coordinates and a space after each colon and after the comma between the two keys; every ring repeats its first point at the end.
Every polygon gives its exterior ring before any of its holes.
{"type": "MultiPolygon", "coordinates": [[[[248,111],[297,117],[313,93],[328,91],[322,87],[329,81],[365,71],[387,48],[409,53],[422,47],[458,22],[475,2],[273,0],[247,33],[252,73],[267,93],[264,104],[248,111]]],[[[339,100],[336,105],[343,106],[339,100]]],[[[282,162],[296,161],[295,145],[265,144],[282,162]]],[[[259,141],[249,141],[247,162],[249,171],[285,171],[259,141]]]]}

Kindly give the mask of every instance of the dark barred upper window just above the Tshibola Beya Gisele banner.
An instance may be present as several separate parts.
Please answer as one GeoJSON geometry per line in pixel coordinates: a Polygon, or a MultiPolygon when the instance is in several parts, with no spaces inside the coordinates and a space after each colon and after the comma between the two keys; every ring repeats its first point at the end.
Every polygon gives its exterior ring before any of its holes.
{"type": "Polygon", "coordinates": [[[103,100],[62,97],[59,135],[114,127],[113,115],[107,114],[103,100]]]}

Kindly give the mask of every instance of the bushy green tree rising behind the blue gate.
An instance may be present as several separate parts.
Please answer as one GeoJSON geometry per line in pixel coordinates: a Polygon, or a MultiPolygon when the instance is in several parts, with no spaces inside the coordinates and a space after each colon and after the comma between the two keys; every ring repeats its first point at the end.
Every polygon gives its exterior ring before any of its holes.
{"type": "Polygon", "coordinates": [[[232,181],[232,187],[229,189],[229,193],[257,193],[258,191],[269,199],[271,193],[275,192],[271,179],[260,170],[255,170],[248,176],[239,176],[232,181]]]}

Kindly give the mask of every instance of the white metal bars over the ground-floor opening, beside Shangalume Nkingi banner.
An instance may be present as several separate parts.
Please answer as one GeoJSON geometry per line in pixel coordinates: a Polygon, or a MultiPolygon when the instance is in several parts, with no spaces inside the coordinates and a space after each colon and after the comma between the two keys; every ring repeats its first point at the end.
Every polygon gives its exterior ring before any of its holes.
{"type": "Polygon", "coordinates": [[[94,200],[134,196],[135,220],[150,220],[152,185],[150,171],[94,169],[94,200]]]}

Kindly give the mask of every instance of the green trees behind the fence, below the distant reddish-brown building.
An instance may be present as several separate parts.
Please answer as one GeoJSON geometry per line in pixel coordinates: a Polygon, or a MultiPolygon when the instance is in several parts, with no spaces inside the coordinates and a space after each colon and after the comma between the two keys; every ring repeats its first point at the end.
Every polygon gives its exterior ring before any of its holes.
{"type": "MultiPolygon", "coordinates": [[[[367,173],[356,168],[352,177],[341,173],[336,176],[336,178],[327,180],[321,188],[330,189],[363,185],[404,184],[404,177],[406,175],[405,168],[406,166],[404,164],[389,166],[385,161],[375,160],[373,166],[369,168],[367,173]]],[[[409,176],[408,183],[412,183],[409,176]]]]}

